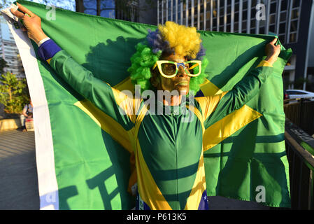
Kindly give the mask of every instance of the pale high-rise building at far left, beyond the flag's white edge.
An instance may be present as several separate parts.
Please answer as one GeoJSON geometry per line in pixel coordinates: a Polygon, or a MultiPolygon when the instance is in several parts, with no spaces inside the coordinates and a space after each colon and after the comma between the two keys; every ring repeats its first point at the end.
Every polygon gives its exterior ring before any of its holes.
{"type": "Polygon", "coordinates": [[[4,72],[10,71],[17,75],[18,78],[25,78],[24,69],[20,54],[13,39],[8,25],[0,22],[0,57],[6,60],[8,67],[4,68],[4,72]]]}

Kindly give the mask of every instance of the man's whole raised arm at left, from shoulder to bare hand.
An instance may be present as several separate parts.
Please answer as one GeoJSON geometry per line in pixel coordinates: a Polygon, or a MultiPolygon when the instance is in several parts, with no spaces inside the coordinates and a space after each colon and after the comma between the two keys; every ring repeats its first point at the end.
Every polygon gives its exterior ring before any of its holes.
{"type": "Polygon", "coordinates": [[[94,77],[91,71],[78,64],[65,50],[48,38],[41,29],[41,18],[17,3],[20,11],[11,12],[22,19],[29,38],[39,45],[38,55],[46,60],[52,69],[69,83],[74,90],[89,99],[92,104],[122,125],[124,130],[131,130],[136,119],[139,99],[110,87],[108,83],[94,77]]]}

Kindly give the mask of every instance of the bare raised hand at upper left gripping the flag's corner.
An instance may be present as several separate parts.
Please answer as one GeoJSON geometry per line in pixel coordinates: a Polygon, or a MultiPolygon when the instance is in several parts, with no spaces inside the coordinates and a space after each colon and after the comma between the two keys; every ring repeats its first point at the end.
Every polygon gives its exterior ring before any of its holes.
{"type": "Polygon", "coordinates": [[[23,21],[29,38],[31,38],[37,44],[39,43],[39,41],[47,38],[48,36],[45,35],[43,29],[41,29],[41,18],[22,6],[20,3],[17,3],[17,6],[23,13],[18,10],[14,10],[13,8],[11,8],[11,13],[13,13],[15,16],[17,16],[17,18],[20,18],[23,21]],[[24,13],[26,13],[27,15],[25,15],[24,13]]]}

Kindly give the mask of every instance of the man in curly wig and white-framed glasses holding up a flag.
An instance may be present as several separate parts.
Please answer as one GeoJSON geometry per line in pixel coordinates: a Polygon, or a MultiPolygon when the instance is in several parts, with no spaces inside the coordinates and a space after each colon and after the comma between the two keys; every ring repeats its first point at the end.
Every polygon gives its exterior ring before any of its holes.
{"type": "Polygon", "coordinates": [[[185,105],[184,97],[198,92],[204,83],[208,62],[202,60],[204,48],[194,27],[166,22],[150,31],[145,43],[136,45],[128,70],[142,92],[175,92],[148,106],[144,99],[130,97],[95,78],[45,35],[41,18],[19,3],[17,6],[23,13],[12,13],[23,21],[29,38],[38,44],[40,57],[127,131],[136,167],[132,175],[136,179],[130,185],[138,184],[136,208],[208,209],[203,134],[215,114],[232,113],[259,92],[278,59],[277,39],[266,45],[266,59],[232,90],[214,97],[195,97],[185,105]],[[156,114],[151,110],[154,106],[169,113],[156,114]],[[188,122],[184,119],[186,108],[195,114],[188,122]]]}

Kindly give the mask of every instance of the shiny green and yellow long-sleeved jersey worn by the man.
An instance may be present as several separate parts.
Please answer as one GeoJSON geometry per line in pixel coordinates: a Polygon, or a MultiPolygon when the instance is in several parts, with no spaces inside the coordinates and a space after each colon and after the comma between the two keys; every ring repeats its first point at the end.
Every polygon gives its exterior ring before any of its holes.
{"type": "Polygon", "coordinates": [[[170,111],[157,114],[145,100],[95,78],[64,50],[55,53],[48,63],[106,114],[106,121],[113,127],[108,133],[131,153],[138,209],[208,209],[203,152],[212,139],[210,133],[204,133],[218,115],[242,110],[273,69],[262,61],[232,90],[213,97],[196,97],[180,106],[156,101],[155,109],[170,111]]]}

